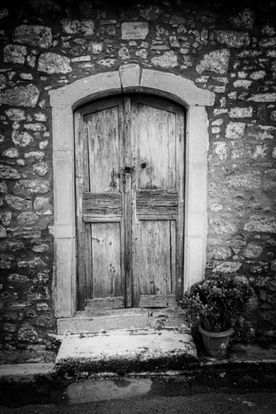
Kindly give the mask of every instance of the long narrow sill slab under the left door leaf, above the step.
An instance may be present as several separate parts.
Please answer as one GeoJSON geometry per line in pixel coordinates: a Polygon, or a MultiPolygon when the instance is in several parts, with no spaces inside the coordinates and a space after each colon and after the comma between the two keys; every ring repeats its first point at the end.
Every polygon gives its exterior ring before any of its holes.
{"type": "Polygon", "coordinates": [[[149,326],[148,310],[143,308],[76,312],[74,317],[57,319],[59,335],[96,333],[111,329],[137,329],[149,326]]]}

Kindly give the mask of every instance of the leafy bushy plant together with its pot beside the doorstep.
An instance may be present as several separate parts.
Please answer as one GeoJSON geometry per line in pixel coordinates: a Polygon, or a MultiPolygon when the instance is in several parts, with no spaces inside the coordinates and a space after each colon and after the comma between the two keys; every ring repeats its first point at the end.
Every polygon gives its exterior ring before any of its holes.
{"type": "Polygon", "coordinates": [[[210,275],[193,284],[180,301],[190,326],[199,326],[209,355],[223,357],[233,326],[239,315],[246,312],[253,296],[246,277],[225,274],[210,275]]]}

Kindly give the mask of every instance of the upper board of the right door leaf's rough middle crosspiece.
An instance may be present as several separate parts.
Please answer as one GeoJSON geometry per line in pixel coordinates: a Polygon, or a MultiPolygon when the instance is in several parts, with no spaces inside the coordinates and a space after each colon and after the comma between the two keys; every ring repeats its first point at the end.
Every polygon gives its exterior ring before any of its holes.
{"type": "Polygon", "coordinates": [[[136,193],[137,207],[142,206],[163,206],[177,207],[177,190],[138,190],[136,193]]]}

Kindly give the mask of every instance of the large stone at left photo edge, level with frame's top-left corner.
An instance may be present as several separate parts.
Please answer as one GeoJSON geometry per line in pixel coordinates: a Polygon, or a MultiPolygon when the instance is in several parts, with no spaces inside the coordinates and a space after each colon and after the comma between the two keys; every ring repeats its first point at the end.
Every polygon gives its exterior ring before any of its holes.
{"type": "Polygon", "coordinates": [[[10,106],[27,106],[34,108],[39,99],[39,90],[30,83],[28,86],[17,86],[0,92],[0,103],[10,106]]]}

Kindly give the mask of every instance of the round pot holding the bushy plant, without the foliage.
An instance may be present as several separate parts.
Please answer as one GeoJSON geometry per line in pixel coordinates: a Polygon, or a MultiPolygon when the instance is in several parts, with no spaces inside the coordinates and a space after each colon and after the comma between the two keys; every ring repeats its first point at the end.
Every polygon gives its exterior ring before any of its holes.
{"type": "Polygon", "coordinates": [[[230,335],[234,332],[233,328],[224,332],[208,332],[199,326],[199,331],[202,333],[204,346],[209,355],[212,357],[224,357],[226,355],[230,335]]]}

